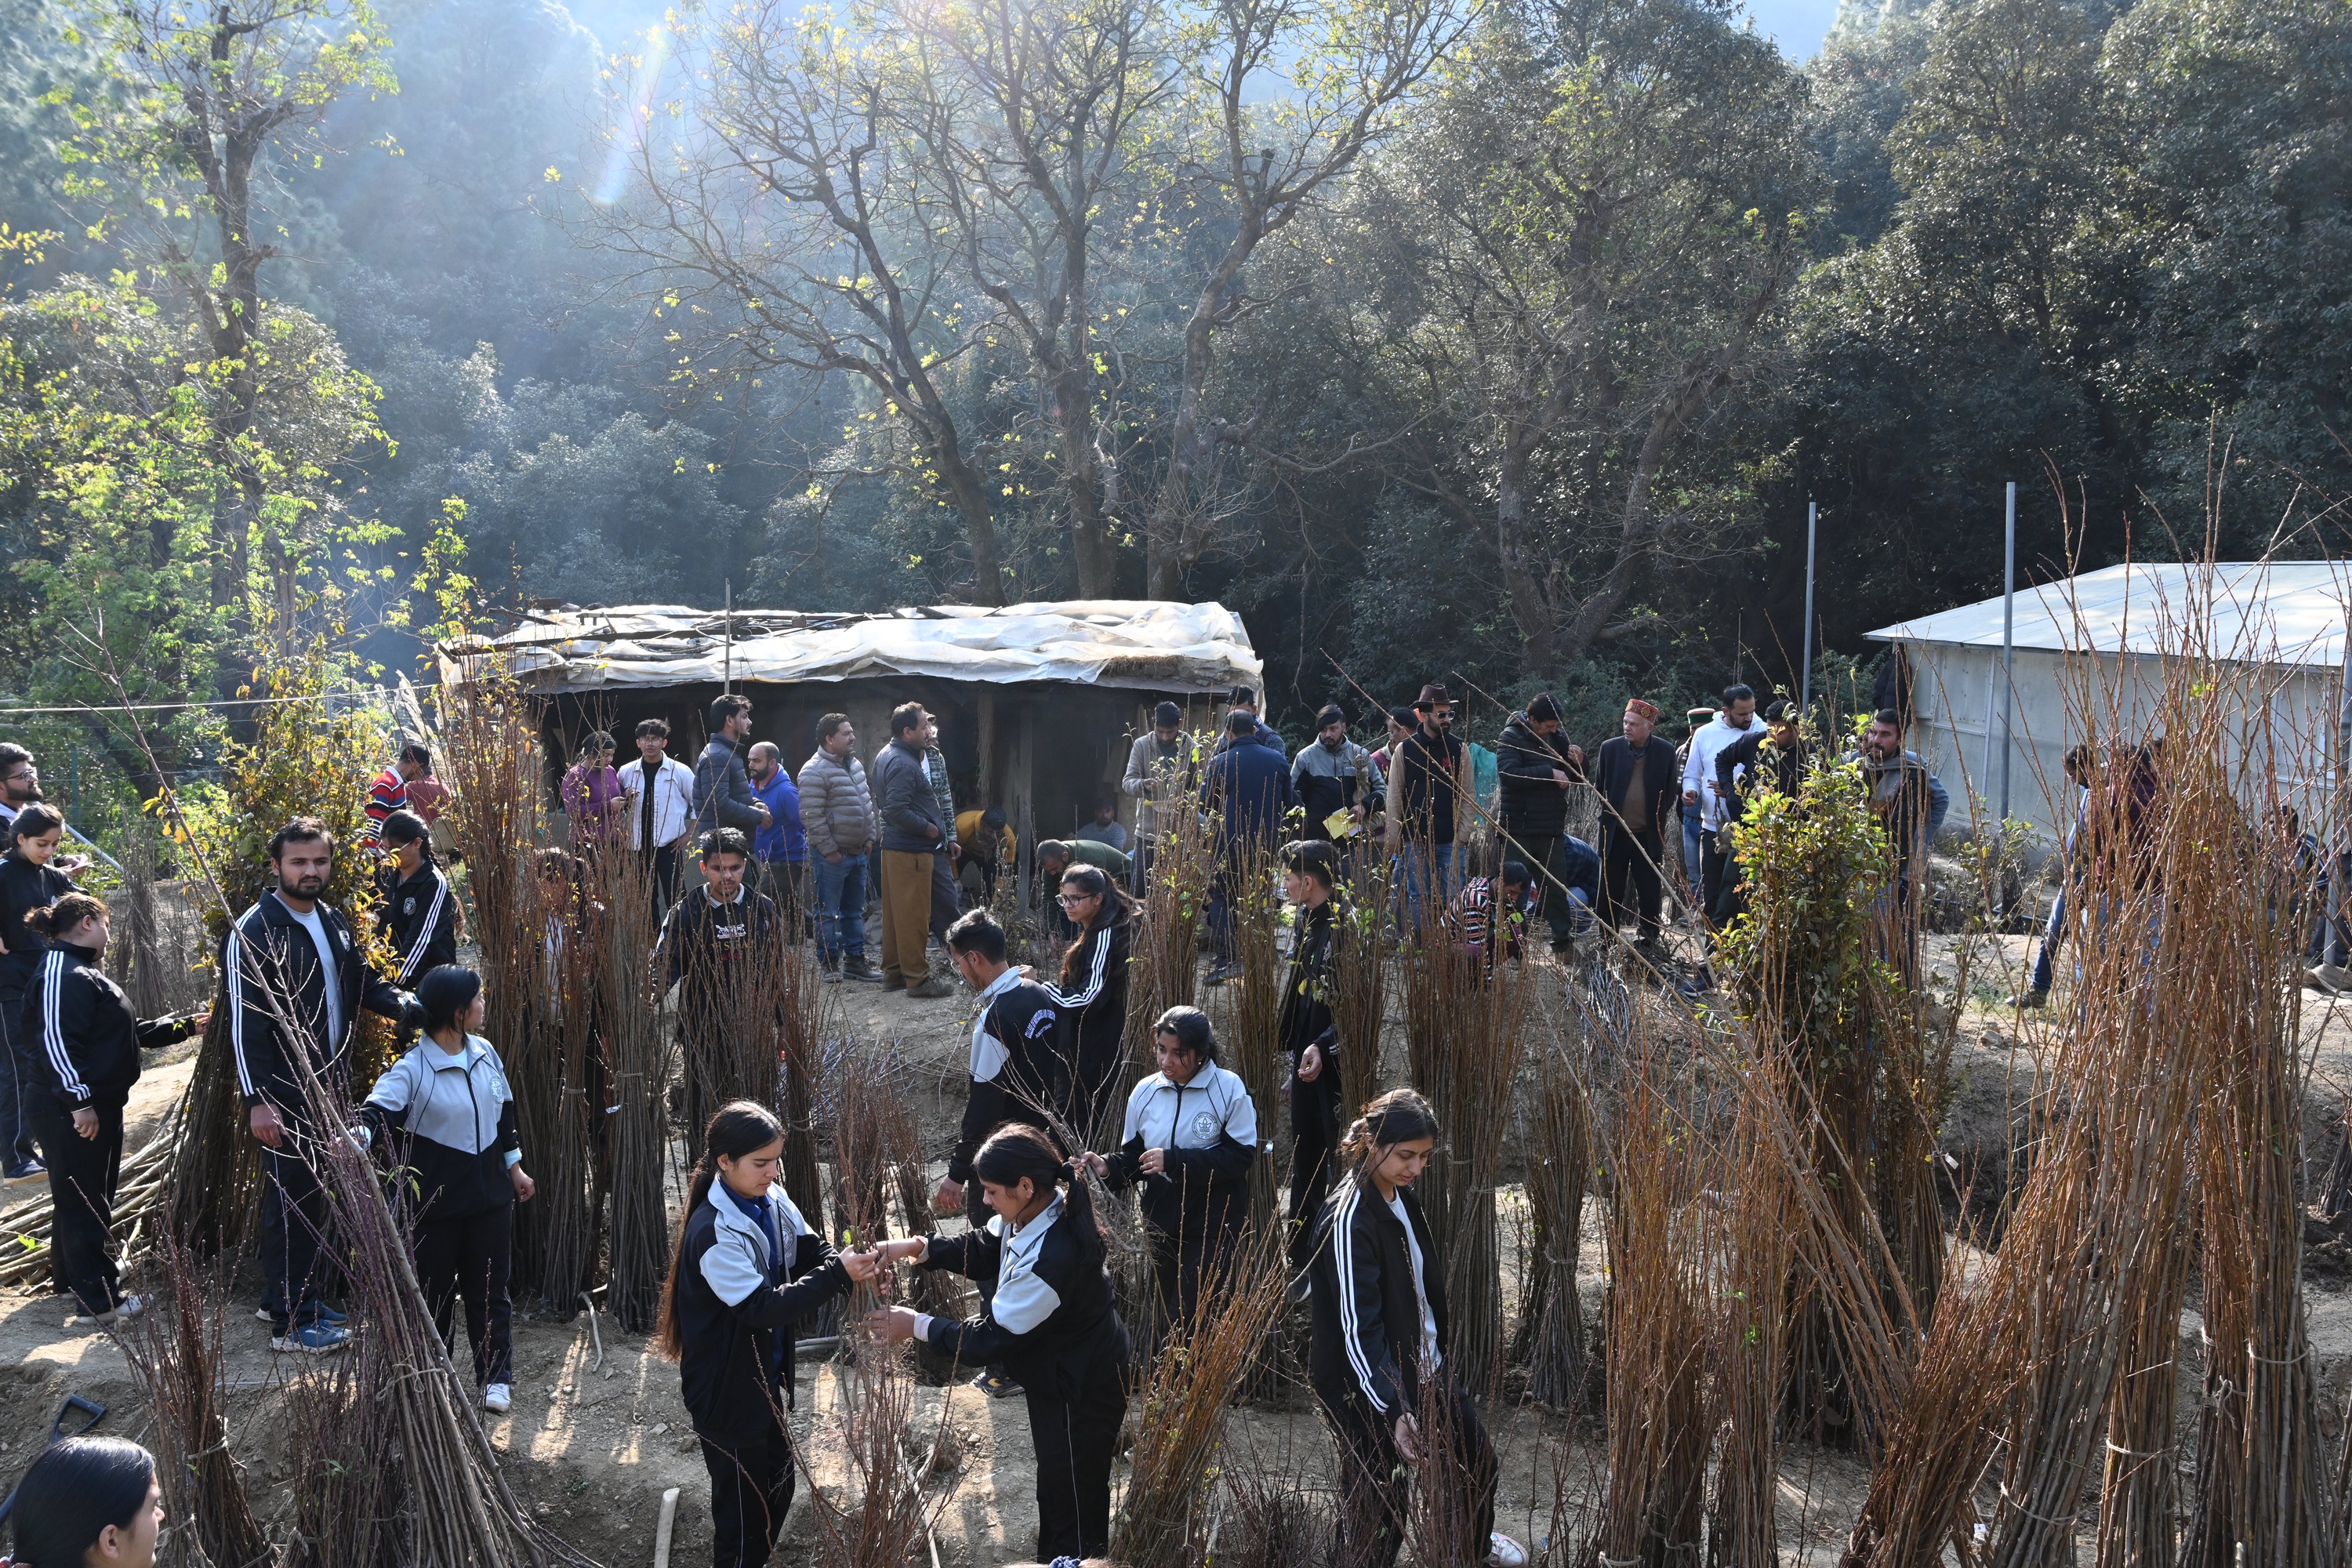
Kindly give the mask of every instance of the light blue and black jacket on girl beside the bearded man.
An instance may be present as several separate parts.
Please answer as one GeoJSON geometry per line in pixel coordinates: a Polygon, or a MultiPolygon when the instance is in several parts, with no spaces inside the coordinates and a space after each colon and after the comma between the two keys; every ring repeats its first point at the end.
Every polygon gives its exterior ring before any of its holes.
{"type": "Polygon", "coordinates": [[[480,1034],[449,1056],[419,1039],[383,1070],[360,1105],[360,1126],[390,1154],[419,1220],[459,1220],[515,1201],[508,1166],[522,1164],[515,1091],[480,1034]]]}

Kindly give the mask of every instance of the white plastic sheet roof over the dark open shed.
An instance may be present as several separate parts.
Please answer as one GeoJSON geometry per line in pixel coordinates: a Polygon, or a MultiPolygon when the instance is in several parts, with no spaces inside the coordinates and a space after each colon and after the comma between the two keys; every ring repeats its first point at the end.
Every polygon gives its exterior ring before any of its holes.
{"type": "Polygon", "coordinates": [[[492,639],[445,642],[445,682],[506,663],[534,691],[609,691],[717,682],[837,682],[931,675],[960,682],[1080,682],[1143,691],[1256,686],[1263,663],[1223,604],[1065,599],[936,604],[877,616],[795,609],[532,611],[492,639]],[[734,628],[734,649],[727,630],[734,628]]]}

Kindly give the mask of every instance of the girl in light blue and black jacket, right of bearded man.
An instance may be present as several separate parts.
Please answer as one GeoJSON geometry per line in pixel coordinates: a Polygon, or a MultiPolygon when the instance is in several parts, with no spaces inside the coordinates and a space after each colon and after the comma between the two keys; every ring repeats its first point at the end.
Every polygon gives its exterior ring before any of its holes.
{"type": "Polygon", "coordinates": [[[515,1204],[536,1185],[522,1168],[515,1093],[506,1063],[482,1039],[482,976],[456,964],[416,987],[423,1032],[360,1105],[353,1135],[381,1147],[397,1173],[416,1284],[442,1342],[459,1298],[482,1408],[513,1403],[515,1333],[506,1281],[515,1265],[515,1204]]]}

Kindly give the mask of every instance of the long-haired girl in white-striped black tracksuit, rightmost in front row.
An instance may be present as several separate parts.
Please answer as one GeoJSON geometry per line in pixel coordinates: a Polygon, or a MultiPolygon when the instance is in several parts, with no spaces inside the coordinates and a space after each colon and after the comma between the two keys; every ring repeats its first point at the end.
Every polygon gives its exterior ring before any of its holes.
{"type": "Polygon", "coordinates": [[[1494,1443],[1444,1359],[1444,1248],[1414,1199],[1435,1147],[1430,1103],[1390,1088],[1348,1128],[1341,1152],[1352,1171],[1315,1225],[1312,1378],[1341,1462],[1336,1556],[1364,1568],[1397,1561],[1409,1476],[1430,1420],[1477,1488],[1468,1542],[1484,1544],[1486,1563],[1519,1568],[1526,1549],[1494,1530],[1494,1443]]]}

